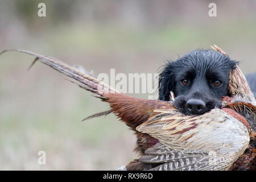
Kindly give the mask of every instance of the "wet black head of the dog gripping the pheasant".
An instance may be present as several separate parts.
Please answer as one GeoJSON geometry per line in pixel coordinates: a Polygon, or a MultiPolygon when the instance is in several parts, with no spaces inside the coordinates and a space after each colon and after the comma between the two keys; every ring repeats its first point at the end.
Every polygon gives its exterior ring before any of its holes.
{"type": "Polygon", "coordinates": [[[159,99],[170,100],[184,114],[204,114],[221,106],[228,96],[229,73],[238,61],[221,52],[195,50],[176,61],[168,62],[159,76],[159,99]]]}

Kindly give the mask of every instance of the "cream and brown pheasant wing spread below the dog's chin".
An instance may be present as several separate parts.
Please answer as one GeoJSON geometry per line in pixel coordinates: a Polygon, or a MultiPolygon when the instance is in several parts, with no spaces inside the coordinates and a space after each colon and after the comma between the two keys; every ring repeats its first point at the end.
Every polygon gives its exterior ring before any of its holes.
{"type": "Polygon", "coordinates": [[[140,159],[159,163],[158,170],[228,169],[249,144],[246,126],[221,109],[204,115],[155,110],[158,115],[137,127],[159,140],[140,159]],[[170,115],[167,115],[170,114],[170,115]]]}

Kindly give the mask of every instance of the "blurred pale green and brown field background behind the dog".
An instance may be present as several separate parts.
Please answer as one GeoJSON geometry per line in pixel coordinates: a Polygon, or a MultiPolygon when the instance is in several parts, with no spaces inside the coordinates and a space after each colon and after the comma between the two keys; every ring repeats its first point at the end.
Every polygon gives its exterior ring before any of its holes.
{"type": "MultiPolygon", "coordinates": [[[[0,51],[27,49],[99,73],[157,73],[166,60],[216,44],[256,71],[256,1],[0,1],[0,51]],[[46,3],[46,17],[38,4],[46,3]],[[217,17],[209,17],[209,3],[217,17]]],[[[137,158],[108,104],[34,57],[0,56],[0,169],[113,170],[137,158]],[[46,165],[38,152],[46,152],[46,165]]],[[[147,98],[146,94],[134,94],[147,98]]]]}

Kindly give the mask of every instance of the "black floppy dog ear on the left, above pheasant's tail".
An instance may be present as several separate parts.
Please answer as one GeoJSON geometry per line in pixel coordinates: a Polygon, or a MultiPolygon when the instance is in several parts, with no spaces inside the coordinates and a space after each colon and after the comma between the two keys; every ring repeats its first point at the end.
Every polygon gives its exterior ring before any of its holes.
{"type": "Polygon", "coordinates": [[[169,101],[170,91],[174,92],[175,74],[172,71],[172,63],[164,65],[159,75],[159,100],[169,101]]]}

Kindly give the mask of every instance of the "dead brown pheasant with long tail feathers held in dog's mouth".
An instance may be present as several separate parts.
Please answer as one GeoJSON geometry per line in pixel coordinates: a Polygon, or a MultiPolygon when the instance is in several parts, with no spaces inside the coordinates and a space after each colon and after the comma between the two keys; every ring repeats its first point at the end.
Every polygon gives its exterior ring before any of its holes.
{"type": "Polygon", "coordinates": [[[36,56],[32,64],[39,60],[108,102],[110,110],[88,118],[113,112],[135,131],[139,158],[127,170],[256,170],[256,101],[237,66],[230,72],[231,97],[222,98],[222,109],[184,115],[175,108],[173,94],[170,101],[134,98],[53,57],[6,51],[36,56]]]}

